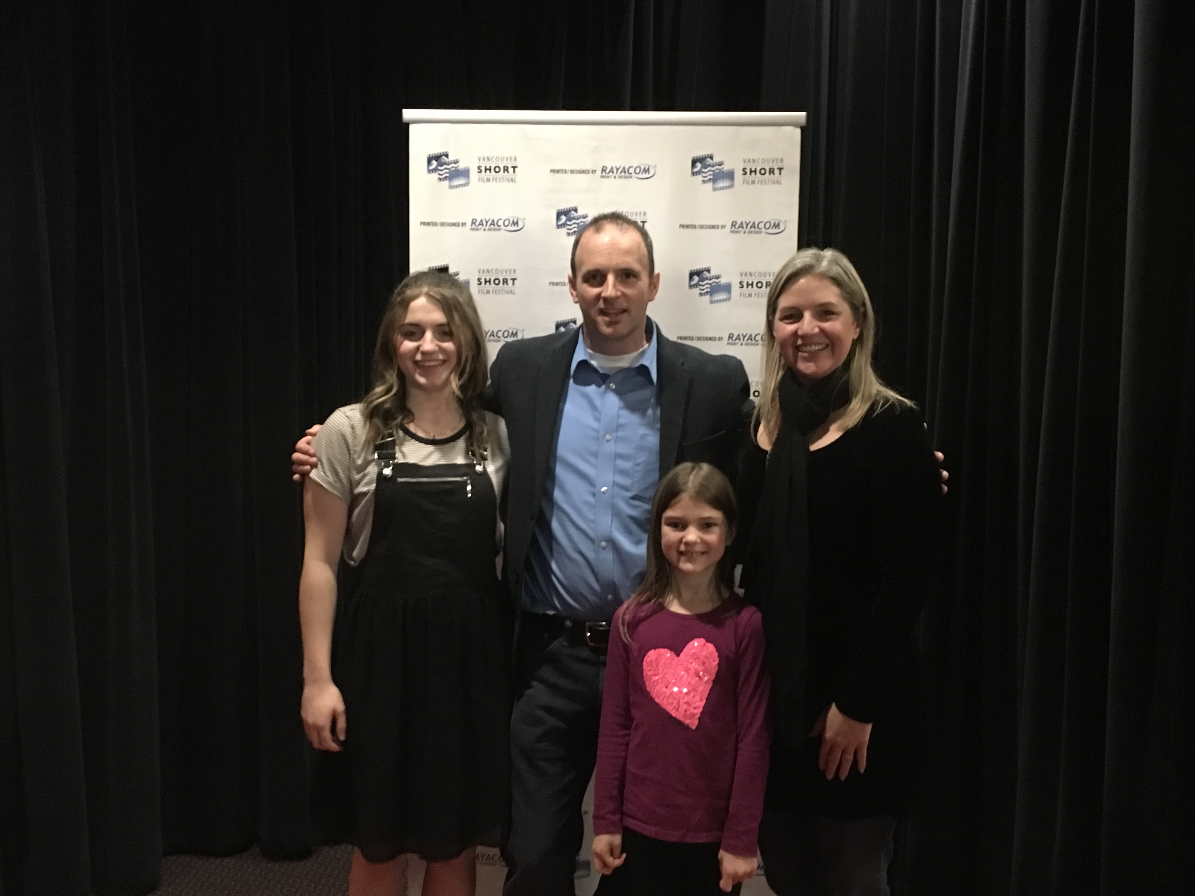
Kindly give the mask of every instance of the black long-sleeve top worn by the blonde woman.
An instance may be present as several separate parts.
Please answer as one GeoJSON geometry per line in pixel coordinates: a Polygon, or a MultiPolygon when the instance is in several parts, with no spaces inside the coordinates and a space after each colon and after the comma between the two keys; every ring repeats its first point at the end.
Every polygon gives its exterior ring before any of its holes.
{"type": "MultiPolygon", "coordinates": [[[[748,462],[762,481],[766,455],[748,462]]],[[[750,501],[749,497],[746,501],[750,501]]],[[[920,415],[893,405],[809,453],[809,606],[805,700],[874,723],[868,771],[826,781],[817,742],[779,745],[770,799],[823,815],[900,815],[915,799],[924,713],[914,631],[940,504],[938,465],[920,415]]]]}

